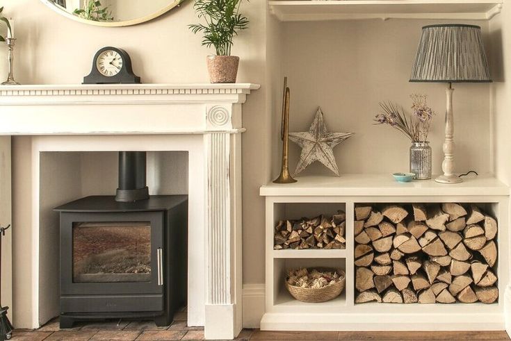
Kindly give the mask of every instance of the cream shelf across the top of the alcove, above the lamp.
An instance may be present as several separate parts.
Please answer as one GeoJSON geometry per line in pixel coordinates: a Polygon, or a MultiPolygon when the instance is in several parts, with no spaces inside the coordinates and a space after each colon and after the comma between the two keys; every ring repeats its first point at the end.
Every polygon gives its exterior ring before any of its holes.
{"type": "Polygon", "coordinates": [[[270,9],[282,22],[343,19],[488,20],[503,0],[275,0],[270,9]]]}

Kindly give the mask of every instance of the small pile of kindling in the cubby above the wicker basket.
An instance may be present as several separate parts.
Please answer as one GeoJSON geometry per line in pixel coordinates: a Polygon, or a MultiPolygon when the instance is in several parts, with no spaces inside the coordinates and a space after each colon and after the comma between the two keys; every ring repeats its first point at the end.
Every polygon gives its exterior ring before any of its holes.
{"type": "Polygon", "coordinates": [[[281,249],[346,249],[346,213],[320,215],[314,218],[281,220],[275,226],[275,250],[281,249]]]}

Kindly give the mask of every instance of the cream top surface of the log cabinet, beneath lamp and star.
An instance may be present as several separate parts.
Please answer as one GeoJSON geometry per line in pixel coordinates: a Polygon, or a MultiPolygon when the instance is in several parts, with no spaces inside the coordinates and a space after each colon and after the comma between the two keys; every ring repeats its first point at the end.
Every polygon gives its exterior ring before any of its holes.
{"type": "Polygon", "coordinates": [[[509,187],[491,175],[465,177],[462,183],[446,185],[434,180],[398,183],[390,174],[342,174],[303,176],[297,183],[263,185],[266,197],[336,196],[507,196],[509,187]]]}

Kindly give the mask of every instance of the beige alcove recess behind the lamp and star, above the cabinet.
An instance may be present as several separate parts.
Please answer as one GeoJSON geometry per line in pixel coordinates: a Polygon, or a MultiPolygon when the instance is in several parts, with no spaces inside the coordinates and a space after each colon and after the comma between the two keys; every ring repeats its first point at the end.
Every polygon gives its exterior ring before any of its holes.
{"type": "MultiPolygon", "coordinates": [[[[273,122],[273,174],[279,171],[282,81],[291,90],[289,131],[307,131],[318,106],[331,132],[352,132],[334,148],[341,174],[392,174],[409,169],[407,140],[373,118],[381,101],[405,110],[411,94],[427,94],[435,110],[430,133],[433,172],[441,173],[444,142],[444,83],[409,83],[422,26],[463,22],[481,26],[492,59],[489,19],[502,1],[268,1],[268,67],[273,122]],[[397,19],[398,18],[398,19],[397,19]],[[386,20],[382,20],[386,19],[386,20]],[[387,20],[388,19],[388,20],[387,20]]],[[[498,51],[496,51],[498,52],[498,51]]],[[[490,60],[490,67],[498,68],[490,60]]],[[[491,84],[455,85],[456,167],[460,173],[492,172],[491,84]],[[476,132],[476,133],[475,133],[476,132]],[[477,157],[474,157],[477,156],[477,157]]],[[[291,143],[289,166],[295,169],[300,147],[291,143]]],[[[314,163],[300,176],[332,173],[314,163]]]]}

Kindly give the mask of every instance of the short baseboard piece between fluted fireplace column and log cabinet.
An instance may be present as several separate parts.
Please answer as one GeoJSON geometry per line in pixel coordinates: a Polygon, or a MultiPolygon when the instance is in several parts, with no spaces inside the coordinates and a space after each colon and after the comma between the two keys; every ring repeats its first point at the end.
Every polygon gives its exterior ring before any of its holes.
{"type": "Polygon", "coordinates": [[[259,328],[264,315],[264,284],[243,284],[243,328],[259,328]]]}

